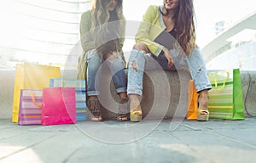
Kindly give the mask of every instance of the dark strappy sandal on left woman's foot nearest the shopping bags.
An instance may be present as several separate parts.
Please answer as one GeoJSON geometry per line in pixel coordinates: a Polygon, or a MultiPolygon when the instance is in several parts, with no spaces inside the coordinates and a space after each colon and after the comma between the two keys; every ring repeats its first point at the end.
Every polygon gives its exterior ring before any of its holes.
{"type": "Polygon", "coordinates": [[[98,99],[88,99],[88,109],[90,110],[90,121],[102,121],[101,105],[98,99]]]}

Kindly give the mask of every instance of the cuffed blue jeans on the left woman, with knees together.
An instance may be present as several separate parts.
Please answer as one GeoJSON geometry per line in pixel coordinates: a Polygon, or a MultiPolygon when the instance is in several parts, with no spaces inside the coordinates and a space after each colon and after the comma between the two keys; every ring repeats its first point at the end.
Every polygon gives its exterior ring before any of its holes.
{"type": "MultiPolygon", "coordinates": [[[[106,64],[110,69],[113,76],[113,84],[117,93],[124,93],[127,89],[127,79],[125,75],[125,63],[123,59],[118,56],[117,59],[107,59],[106,64]]],[[[87,53],[87,95],[99,95],[97,77],[101,73],[98,73],[103,63],[102,57],[96,52],[96,50],[90,50],[87,53]]]]}

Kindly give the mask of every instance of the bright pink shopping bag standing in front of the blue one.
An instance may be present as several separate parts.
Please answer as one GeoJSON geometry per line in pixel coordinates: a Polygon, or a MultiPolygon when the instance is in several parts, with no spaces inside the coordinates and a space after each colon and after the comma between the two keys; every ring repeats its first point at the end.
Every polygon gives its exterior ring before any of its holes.
{"type": "Polygon", "coordinates": [[[76,123],[74,87],[45,87],[43,89],[41,124],[76,123]]]}

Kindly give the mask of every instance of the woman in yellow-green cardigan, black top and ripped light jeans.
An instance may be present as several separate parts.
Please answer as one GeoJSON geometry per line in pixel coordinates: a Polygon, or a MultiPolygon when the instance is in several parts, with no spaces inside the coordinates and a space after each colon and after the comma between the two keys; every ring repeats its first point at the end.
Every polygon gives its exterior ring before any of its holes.
{"type": "Polygon", "coordinates": [[[136,35],[128,69],[127,93],[131,121],[142,121],[139,97],[143,91],[144,70],[180,70],[188,67],[200,94],[198,120],[208,121],[207,69],[195,44],[193,0],[164,0],[164,5],[149,6],[136,35]]]}

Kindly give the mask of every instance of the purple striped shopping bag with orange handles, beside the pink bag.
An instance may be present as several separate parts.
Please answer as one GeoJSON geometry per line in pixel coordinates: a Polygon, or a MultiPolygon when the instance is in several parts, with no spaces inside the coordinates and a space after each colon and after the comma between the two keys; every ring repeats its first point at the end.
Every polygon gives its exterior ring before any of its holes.
{"type": "Polygon", "coordinates": [[[43,91],[20,89],[19,125],[40,125],[43,91]]]}

